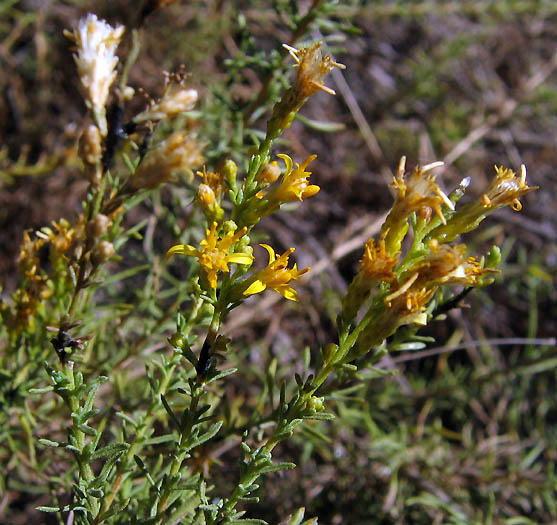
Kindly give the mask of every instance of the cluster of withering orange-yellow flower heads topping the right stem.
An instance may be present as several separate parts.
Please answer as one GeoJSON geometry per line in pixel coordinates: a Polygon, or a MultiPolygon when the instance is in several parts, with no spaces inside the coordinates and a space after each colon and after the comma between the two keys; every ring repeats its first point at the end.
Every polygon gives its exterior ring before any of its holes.
{"type": "MultiPolygon", "coordinates": [[[[486,268],[483,258],[467,255],[465,244],[449,244],[457,235],[474,229],[487,213],[505,205],[520,209],[519,198],[535,188],[526,184],[526,170],[517,178],[513,171],[496,168],[496,176],[480,199],[455,210],[462,197],[461,185],[452,200],[428,173],[441,163],[416,167],[404,177],[404,159],[395,177],[395,202],[378,242],[370,239],[364,249],[360,270],[343,301],[343,326],[355,322],[360,309],[364,329],[359,333],[353,359],[392,335],[400,326],[425,325],[435,293],[445,286],[477,287],[489,284],[496,272],[486,268]],[[432,212],[435,212],[436,219],[432,212]],[[414,220],[413,243],[401,260],[401,246],[414,220]],[[433,225],[433,226],[431,226],[433,225]]],[[[453,194],[451,194],[453,195],[453,194]]]]}

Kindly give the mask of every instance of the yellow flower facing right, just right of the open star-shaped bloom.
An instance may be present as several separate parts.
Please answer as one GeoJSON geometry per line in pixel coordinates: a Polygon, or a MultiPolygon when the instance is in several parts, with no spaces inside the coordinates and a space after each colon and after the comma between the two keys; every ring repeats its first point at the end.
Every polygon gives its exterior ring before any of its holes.
{"type": "Polygon", "coordinates": [[[262,292],[266,288],[271,288],[290,301],[299,301],[298,292],[289,286],[291,280],[297,281],[301,275],[309,272],[310,268],[298,270],[296,264],[288,268],[288,258],[294,253],[295,248],[286,250],[279,257],[275,251],[267,244],[261,244],[269,254],[269,264],[263,270],[257,272],[252,278],[248,279],[248,287],[243,295],[253,295],[262,292]]]}

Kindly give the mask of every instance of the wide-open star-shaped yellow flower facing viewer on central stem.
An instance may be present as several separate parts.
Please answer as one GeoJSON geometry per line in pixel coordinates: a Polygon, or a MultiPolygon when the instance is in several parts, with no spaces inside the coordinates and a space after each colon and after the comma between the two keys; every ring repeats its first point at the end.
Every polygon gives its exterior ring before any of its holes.
{"type": "Polygon", "coordinates": [[[205,239],[200,243],[201,249],[197,249],[189,244],[177,244],[166,252],[166,258],[175,254],[191,255],[197,257],[201,268],[207,276],[207,281],[211,288],[216,289],[219,272],[228,273],[228,265],[247,264],[253,262],[253,256],[247,253],[232,252],[230,248],[245,235],[247,228],[241,228],[236,233],[229,231],[223,237],[217,234],[217,223],[214,222],[210,230],[206,231],[205,239]]]}

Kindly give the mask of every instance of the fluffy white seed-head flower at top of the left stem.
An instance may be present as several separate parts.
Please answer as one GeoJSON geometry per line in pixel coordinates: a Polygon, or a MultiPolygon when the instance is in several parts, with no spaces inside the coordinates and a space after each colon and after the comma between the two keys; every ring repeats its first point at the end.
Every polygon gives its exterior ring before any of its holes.
{"type": "Polygon", "coordinates": [[[79,21],[73,33],[66,31],[64,34],[76,44],[74,60],[87,105],[93,111],[102,112],[116,77],[118,57],[114,53],[124,34],[124,26],[113,28],[89,13],[79,21]]]}

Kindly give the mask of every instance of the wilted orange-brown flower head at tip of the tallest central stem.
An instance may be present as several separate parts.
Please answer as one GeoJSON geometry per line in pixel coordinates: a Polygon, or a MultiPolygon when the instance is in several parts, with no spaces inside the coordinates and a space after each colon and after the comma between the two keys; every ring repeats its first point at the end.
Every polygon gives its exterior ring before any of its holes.
{"type": "Polygon", "coordinates": [[[344,69],[344,64],[335,62],[329,55],[323,57],[321,53],[321,42],[316,42],[310,47],[296,49],[295,47],[283,44],[290,56],[295,60],[295,67],[298,68],[296,82],[293,86],[296,98],[306,99],[317,91],[325,91],[330,95],[335,92],[323,84],[325,75],[338,67],[344,69]]]}

